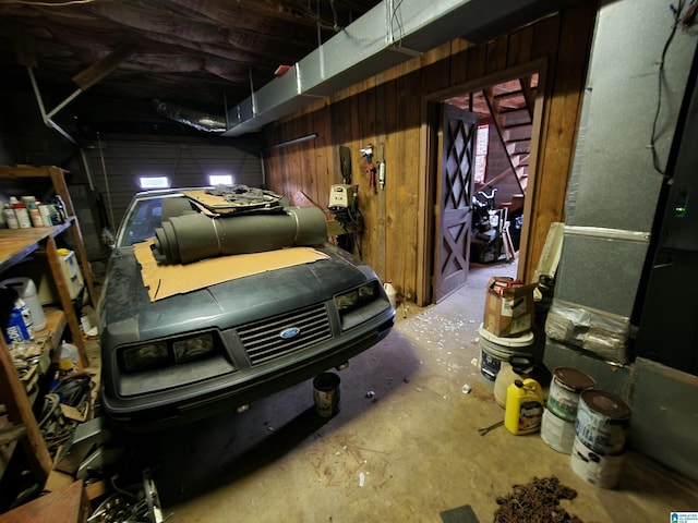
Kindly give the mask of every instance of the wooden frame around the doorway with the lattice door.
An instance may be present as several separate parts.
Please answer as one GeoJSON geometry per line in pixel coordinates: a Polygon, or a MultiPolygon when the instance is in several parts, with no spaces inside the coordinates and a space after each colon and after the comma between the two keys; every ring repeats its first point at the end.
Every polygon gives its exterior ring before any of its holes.
{"type": "Polygon", "coordinates": [[[521,229],[521,241],[519,245],[519,265],[517,268],[517,277],[524,279],[524,275],[532,273],[533,269],[526,266],[526,250],[528,239],[531,235],[529,230],[532,220],[530,217],[537,208],[540,191],[535,184],[538,178],[538,154],[541,143],[543,113],[545,108],[545,93],[547,92],[546,82],[547,59],[533,60],[520,65],[508,68],[497,73],[488,74],[479,78],[474,78],[462,84],[458,84],[447,89],[442,89],[430,95],[425,95],[421,99],[421,124],[420,124],[420,151],[419,151],[419,208],[417,231],[417,304],[426,306],[433,303],[434,292],[432,275],[434,271],[434,236],[435,236],[435,206],[437,187],[440,183],[440,172],[437,172],[438,158],[441,155],[437,150],[438,143],[438,124],[434,120],[434,106],[443,102],[448,98],[461,95],[464,93],[472,93],[480,90],[490,85],[496,85],[508,80],[527,76],[538,73],[538,89],[535,92],[535,107],[533,108],[533,125],[531,129],[531,158],[529,163],[529,178],[526,188],[526,198],[524,202],[524,227],[521,229]],[[524,263],[521,263],[524,262],[524,263]]]}

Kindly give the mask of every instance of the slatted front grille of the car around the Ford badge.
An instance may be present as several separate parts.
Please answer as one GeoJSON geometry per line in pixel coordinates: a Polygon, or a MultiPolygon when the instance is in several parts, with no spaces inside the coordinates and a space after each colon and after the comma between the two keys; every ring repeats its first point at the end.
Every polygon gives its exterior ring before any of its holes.
{"type": "Polygon", "coordinates": [[[324,305],[254,321],[237,330],[252,365],[276,360],[332,338],[324,305]],[[282,331],[292,328],[299,329],[297,336],[281,338],[282,331]]]}

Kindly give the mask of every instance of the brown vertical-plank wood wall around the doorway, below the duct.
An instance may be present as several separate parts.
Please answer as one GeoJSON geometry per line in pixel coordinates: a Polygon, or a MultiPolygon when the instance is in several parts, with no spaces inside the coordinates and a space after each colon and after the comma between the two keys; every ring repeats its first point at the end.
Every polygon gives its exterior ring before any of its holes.
{"type": "MultiPolygon", "coordinates": [[[[270,190],[297,205],[325,208],[332,184],[342,183],[339,146],[352,151],[352,183],[359,184],[364,219],[361,256],[400,295],[420,305],[431,300],[429,259],[433,241],[420,234],[429,220],[433,191],[426,165],[426,101],[436,94],[473,86],[509,69],[545,64],[537,169],[527,199],[528,216],[519,277],[530,280],[551,222],[562,221],[571,166],[595,2],[581,2],[489,44],[454,40],[380,75],[348,86],[328,99],[264,130],[265,173],[270,190]],[[288,146],[278,144],[315,135],[288,146]],[[386,186],[372,191],[359,149],[385,143],[386,186]]],[[[452,93],[453,96],[453,93],[452,93]]],[[[445,98],[445,96],[444,96],[445,98]]],[[[330,215],[328,215],[330,216],[330,215]]],[[[433,257],[433,256],[432,256],[433,257]]]]}

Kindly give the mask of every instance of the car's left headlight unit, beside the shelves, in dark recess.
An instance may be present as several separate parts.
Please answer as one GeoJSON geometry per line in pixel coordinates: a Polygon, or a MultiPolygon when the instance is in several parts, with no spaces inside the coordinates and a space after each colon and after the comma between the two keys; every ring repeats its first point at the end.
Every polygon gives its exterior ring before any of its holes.
{"type": "Polygon", "coordinates": [[[123,369],[140,373],[209,356],[218,351],[214,332],[128,346],[121,351],[123,369]]]}

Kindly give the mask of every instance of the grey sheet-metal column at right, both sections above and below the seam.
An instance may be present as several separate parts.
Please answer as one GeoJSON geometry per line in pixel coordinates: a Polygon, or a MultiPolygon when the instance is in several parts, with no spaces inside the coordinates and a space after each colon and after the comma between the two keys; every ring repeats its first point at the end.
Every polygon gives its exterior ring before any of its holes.
{"type": "MultiPolygon", "coordinates": [[[[556,295],[629,317],[663,177],[648,144],[657,109],[659,62],[670,36],[669,2],[603,2],[599,11],[579,137],[566,198],[566,226],[607,230],[565,234],[556,295]],[[618,231],[647,234],[628,243],[618,231]],[[636,242],[637,240],[637,242],[636,242]]],[[[666,163],[696,49],[696,36],[674,35],[664,63],[655,149],[666,163]]]]}

